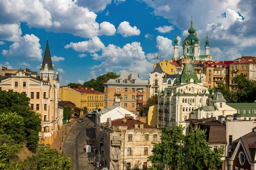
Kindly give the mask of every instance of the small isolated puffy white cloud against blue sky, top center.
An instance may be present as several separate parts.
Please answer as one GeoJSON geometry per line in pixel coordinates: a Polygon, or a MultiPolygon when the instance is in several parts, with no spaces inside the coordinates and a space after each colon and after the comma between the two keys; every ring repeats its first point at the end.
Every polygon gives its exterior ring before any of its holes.
{"type": "Polygon", "coordinates": [[[130,23],[124,21],[119,24],[119,27],[117,28],[117,33],[121,34],[123,37],[140,35],[140,29],[138,29],[136,26],[131,27],[130,23]]]}

